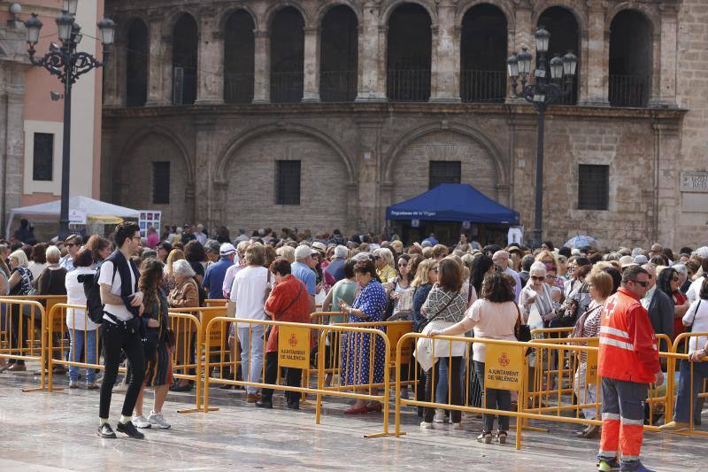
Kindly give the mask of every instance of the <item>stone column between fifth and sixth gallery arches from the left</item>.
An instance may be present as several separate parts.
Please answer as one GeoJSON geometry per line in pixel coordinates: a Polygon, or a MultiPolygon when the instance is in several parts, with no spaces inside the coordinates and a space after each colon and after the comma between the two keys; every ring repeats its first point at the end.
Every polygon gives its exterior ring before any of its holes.
{"type": "Polygon", "coordinates": [[[382,102],[386,100],[385,54],[381,55],[379,32],[379,3],[370,0],[364,3],[363,20],[358,31],[358,102],[382,102]],[[384,76],[381,80],[381,64],[384,76]],[[384,84],[383,87],[381,85],[384,84]]]}

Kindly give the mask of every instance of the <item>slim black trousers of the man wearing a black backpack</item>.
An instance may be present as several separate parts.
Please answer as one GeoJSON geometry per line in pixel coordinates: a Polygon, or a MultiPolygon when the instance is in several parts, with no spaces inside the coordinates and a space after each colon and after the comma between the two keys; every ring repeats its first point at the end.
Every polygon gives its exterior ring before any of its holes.
{"type": "Polygon", "coordinates": [[[121,414],[133,414],[135,400],[140,393],[142,379],[145,376],[145,352],[142,349],[140,331],[126,329],[123,325],[104,320],[100,328],[101,340],[104,345],[104,383],[101,384],[101,406],[99,417],[107,419],[111,409],[113,384],[116,383],[120,352],[125,352],[132,375],[128,375],[126,399],[123,401],[121,414]]]}

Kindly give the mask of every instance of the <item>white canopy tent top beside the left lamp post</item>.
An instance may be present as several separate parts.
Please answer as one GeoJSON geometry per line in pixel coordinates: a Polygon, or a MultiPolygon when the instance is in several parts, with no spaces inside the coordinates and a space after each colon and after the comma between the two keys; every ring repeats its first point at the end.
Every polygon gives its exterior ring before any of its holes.
{"type": "MultiPolygon", "coordinates": [[[[81,210],[83,212],[86,212],[87,219],[94,221],[110,220],[116,218],[135,218],[137,220],[140,217],[140,212],[138,212],[137,210],[133,210],[132,208],[126,208],[125,206],[119,205],[112,205],[110,203],[105,203],[100,200],[94,200],[93,198],[89,197],[82,197],[80,195],[69,198],[69,210],[81,210]]],[[[7,221],[7,228],[5,228],[5,237],[7,237],[8,239],[10,238],[10,232],[12,230],[12,220],[16,215],[24,216],[33,220],[58,221],[60,211],[61,200],[42,203],[39,205],[12,208],[12,210],[10,210],[10,218],[8,218],[7,221]]]]}

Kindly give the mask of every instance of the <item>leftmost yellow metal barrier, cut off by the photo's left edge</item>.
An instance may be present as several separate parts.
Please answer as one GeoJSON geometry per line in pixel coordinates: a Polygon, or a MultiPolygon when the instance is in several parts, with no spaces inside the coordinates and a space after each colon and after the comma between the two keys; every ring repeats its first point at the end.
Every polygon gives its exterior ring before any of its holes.
{"type": "MultiPolygon", "coordinates": [[[[44,368],[47,357],[47,313],[39,301],[14,297],[0,298],[0,359],[40,363],[40,386],[45,388],[44,368]]],[[[50,369],[51,370],[51,369],[50,369]]]]}

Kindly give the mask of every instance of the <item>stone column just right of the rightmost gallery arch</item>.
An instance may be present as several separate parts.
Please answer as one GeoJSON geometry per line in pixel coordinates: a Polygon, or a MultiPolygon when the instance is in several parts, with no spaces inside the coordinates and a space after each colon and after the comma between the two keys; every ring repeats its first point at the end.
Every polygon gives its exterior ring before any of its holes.
{"type": "Polygon", "coordinates": [[[655,71],[650,106],[676,107],[676,54],[678,52],[678,12],[666,6],[661,15],[661,34],[655,35],[653,44],[655,71]],[[657,74],[658,72],[658,74],[657,74]],[[658,76],[657,76],[658,75],[658,76]]]}

